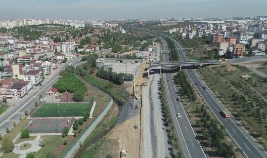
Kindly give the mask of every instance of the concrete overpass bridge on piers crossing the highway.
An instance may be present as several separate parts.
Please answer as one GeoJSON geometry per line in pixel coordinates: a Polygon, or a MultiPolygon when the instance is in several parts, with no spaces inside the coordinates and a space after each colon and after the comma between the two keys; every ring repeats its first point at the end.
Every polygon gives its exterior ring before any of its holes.
{"type": "Polygon", "coordinates": [[[222,64],[221,61],[219,60],[209,60],[209,61],[177,61],[177,62],[151,62],[151,65],[147,69],[147,73],[149,75],[150,70],[152,69],[160,69],[160,74],[161,74],[161,69],[163,67],[180,67],[180,70],[184,66],[200,66],[200,68],[204,65],[219,65],[222,64]],[[153,64],[153,65],[152,65],[153,64]]]}

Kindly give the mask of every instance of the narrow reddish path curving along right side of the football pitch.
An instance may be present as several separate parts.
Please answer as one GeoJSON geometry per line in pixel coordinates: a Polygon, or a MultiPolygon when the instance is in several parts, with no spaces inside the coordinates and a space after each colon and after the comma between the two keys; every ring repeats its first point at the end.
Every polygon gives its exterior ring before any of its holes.
{"type": "MultiPolygon", "coordinates": [[[[90,118],[85,124],[82,125],[81,128],[82,128],[83,130],[86,129],[86,128],[89,126],[89,124],[96,118],[96,116],[98,116],[98,115],[101,113],[101,111],[102,111],[102,109],[103,109],[103,100],[102,100],[102,98],[99,97],[99,96],[96,96],[96,97],[97,97],[98,102],[99,102],[98,110],[97,110],[97,112],[96,112],[95,117],[90,118]]],[[[81,133],[77,133],[77,136],[80,135],[80,134],[81,134],[81,133]]],[[[76,137],[77,137],[77,136],[76,136],[76,137]]],[[[70,138],[68,139],[68,143],[67,143],[67,144],[71,143],[74,139],[75,139],[74,136],[70,137],[70,138]]],[[[66,144],[66,145],[67,145],[67,144],[66,144]]],[[[57,155],[58,153],[60,153],[60,152],[66,147],[66,145],[61,145],[59,148],[57,148],[56,151],[55,151],[55,155],[57,155]]]]}

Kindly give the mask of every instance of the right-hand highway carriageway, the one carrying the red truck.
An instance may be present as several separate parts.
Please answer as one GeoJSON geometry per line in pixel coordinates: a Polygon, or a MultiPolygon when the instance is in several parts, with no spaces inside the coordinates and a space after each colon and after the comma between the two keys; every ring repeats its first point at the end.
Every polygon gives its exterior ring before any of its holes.
{"type": "MultiPolygon", "coordinates": [[[[181,48],[178,42],[175,42],[175,44],[177,48],[181,48]]],[[[179,56],[181,61],[187,60],[184,51],[179,51],[179,56]]],[[[209,88],[203,88],[203,86],[207,87],[207,85],[200,79],[197,72],[192,69],[186,69],[185,71],[191,81],[197,83],[197,85],[193,85],[196,87],[197,91],[210,107],[214,115],[224,125],[236,144],[242,149],[245,156],[248,158],[267,158],[267,153],[263,147],[255,142],[256,140],[242,127],[238,120],[233,118],[233,116],[231,116],[230,119],[225,119],[221,116],[220,112],[227,109],[224,108],[223,104],[216,98],[209,88]]]]}

